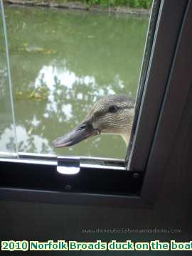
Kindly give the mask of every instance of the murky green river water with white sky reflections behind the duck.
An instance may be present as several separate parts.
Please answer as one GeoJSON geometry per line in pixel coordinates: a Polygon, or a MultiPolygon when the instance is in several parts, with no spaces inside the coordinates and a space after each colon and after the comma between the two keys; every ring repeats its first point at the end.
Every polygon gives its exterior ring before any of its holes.
{"type": "MultiPolygon", "coordinates": [[[[52,142],[79,124],[100,97],[135,97],[149,17],[21,6],[5,11],[18,150],[124,159],[126,146],[118,136],[63,149],[52,142]]],[[[0,65],[4,92],[5,58],[0,65]]],[[[14,148],[9,120],[0,124],[1,151],[14,148]]]]}

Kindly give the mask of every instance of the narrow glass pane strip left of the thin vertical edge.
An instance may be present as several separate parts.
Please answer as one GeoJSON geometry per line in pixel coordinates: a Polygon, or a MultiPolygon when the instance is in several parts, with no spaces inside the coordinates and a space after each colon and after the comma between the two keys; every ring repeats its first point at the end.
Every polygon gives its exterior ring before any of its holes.
{"type": "Polygon", "coordinates": [[[4,12],[2,8],[0,11],[0,156],[13,156],[14,153],[16,154],[16,127],[14,126],[13,102],[11,102],[11,84],[9,84],[11,81],[6,55],[4,12]]]}

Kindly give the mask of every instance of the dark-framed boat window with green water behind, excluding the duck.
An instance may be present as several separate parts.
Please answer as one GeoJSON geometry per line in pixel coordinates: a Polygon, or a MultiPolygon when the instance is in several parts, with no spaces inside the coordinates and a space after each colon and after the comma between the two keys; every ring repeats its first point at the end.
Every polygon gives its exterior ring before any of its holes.
{"type": "Polygon", "coordinates": [[[36,14],[33,9],[27,11],[32,18],[38,16],[38,23],[42,18],[46,23],[48,31],[44,31],[43,38],[39,29],[44,28],[28,23],[28,16],[24,21],[18,18],[19,9],[7,8],[5,18],[1,1],[1,55],[4,59],[0,70],[1,198],[151,206],[161,181],[159,166],[163,168],[169,155],[190,87],[190,72],[181,65],[180,55],[185,58],[185,66],[190,63],[185,43],[191,40],[187,36],[192,16],[191,1],[155,0],[149,26],[147,17],[137,16],[135,21],[127,16],[104,18],[100,14],[89,16],[66,12],[66,27],[63,28],[63,16],[59,11],[50,12],[46,17],[42,11],[36,14]],[[14,14],[18,26],[11,23],[11,14],[14,14]],[[58,17],[57,31],[54,24],[49,23],[51,18],[55,20],[55,16],[58,17]],[[117,30],[113,29],[107,39],[106,32],[113,27],[113,19],[117,30]],[[14,40],[7,36],[7,23],[14,40]],[[83,23],[86,26],[82,26],[83,23]],[[143,29],[139,35],[138,23],[139,29],[143,29]],[[74,26],[73,29],[69,24],[74,26]],[[19,34],[21,28],[30,31],[30,43],[40,40],[38,47],[32,46],[25,36],[19,34]],[[50,33],[53,34],[53,49],[46,40],[50,33]],[[55,40],[60,33],[65,33],[65,36],[60,41],[55,40]],[[100,44],[99,36],[103,47],[95,50],[100,44]],[[132,40],[128,40],[129,37],[132,40]],[[70,43],[66,43],[66,38],[70,43]],[[86,47],[78,43],[83,40],[86,47]],[[115,46],[118,40],[122,42],[119,49],[115,46]],[[128,46],[130,42],[136,55],[132,55],[128,46]],[[75,47],[79,50],[74,50],[75,47]],[[9,55],[12,55],[11,64],[9,55]],[[95,63],[95,66],[90,63],[95,63]],[[102,75],[101,63],[105,75],[102,75]],[[110,63],[114,63],[114,70],[110,63]],[[89,75],[85,75],[85,70],[89,75]],[[178,81],[181,82],[182,72],[186,83],[181,90],[178,81]],[[127,74],[129,81],[125,84],[127,74]],[[136,80],[139,80],[138,89],[134,86],[136,80]],[[28,87],[26,83],[29,83],[28,87]],[[112,136],[95,137],[70,149],[55,151],[50,146],[55,137],[85,117],[92,102],[114,93],[129,94],[136,101],[127,148],[120,138],[112,136]],[[179,94],[182,97],[178,97],[179,94]]]}

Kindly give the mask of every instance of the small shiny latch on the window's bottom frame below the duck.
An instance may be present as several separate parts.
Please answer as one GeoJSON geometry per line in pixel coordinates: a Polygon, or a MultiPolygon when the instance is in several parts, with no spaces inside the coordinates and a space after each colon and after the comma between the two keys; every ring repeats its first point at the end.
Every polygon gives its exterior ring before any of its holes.
{"type": "Polygon", "coordinates": [[[57,157],[57,171],[60,174],[78,174],[80,171],[80,158],[79,157],[57,157]]]}

